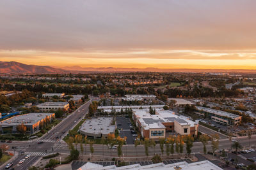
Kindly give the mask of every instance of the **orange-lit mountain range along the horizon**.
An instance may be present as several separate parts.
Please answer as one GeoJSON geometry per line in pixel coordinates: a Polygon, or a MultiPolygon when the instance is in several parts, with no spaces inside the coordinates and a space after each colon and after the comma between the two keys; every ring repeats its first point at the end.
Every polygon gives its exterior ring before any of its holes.
{"type": "Polygon", "coordinates": [[[20,62],[1,62],[0,73],[11,74],[51,74],[51,73],[111,73],[111,72],[194,72],[194,73],[256,73],[256,69],[159,69],[157,67],[147,68],[123,68],[123,67],[52,67],[22,64],[20,62]]]}

